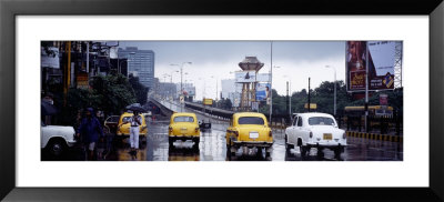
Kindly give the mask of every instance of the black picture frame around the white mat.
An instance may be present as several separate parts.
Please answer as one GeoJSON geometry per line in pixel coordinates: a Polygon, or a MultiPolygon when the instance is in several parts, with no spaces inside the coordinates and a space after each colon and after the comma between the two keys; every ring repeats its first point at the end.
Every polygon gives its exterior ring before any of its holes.
{"type": "MultiPolygon", "coordinates": [[[[444,3],[442,0],[372,0],[369,2],[354,0],[0,0],[0,199],[7,201],[239,201],[241,199],[270,201],[282,199],[283,195],[289,200],[310,201],[443,201],[443,19],[444,3]],[[40,14],[350,14],[351,18],[353,14],[428,16],[430,109],[423,110],[430,110],[430,186],[16,188],[14,17],[40,14]]],[[[426,131],[421,135],[426,135],[426,131]]],[[[258,185],[266,186],[266,184],[258,185]]]]}

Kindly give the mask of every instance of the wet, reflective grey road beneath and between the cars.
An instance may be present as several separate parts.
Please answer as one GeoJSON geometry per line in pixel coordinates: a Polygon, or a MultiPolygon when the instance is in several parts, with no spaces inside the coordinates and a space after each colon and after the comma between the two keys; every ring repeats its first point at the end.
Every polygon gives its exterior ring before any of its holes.
{"type": "MultiPolygon", "coordinates": [[[[170,103],[163,103],[170,107],[170,103]]],[[[171,104],[174,111],[181,111],[180,107],[171,104]]],[[[184,109],[188,112],[192,110],[184,109]]],[[[274,130],[273,151],[265,158],[265,152],[258,152],[255,149],[240,149],[231,159],[226,155],[225,130],[228,121],[215,120],[195,112],[199,120],[211,121],[212,129],[201,132],[199,149],[193,149],[190,141],[174,142],[170,148],[168,143],[169,120],[149,121],[149,133],[147,143],[142,143],[137,156],[129,153],[128,139],[118,145],[107,160],[117,161],[402,161],[403,145],[397,142],[367,140],[362,138],[347,138],[347,148],[340,159],[334,158],[331,150],[325,149],[321,155],[316,149],[311,149],[310,154],[301,158],[299,148],[285,154],[284,130],[274,130]]]]}

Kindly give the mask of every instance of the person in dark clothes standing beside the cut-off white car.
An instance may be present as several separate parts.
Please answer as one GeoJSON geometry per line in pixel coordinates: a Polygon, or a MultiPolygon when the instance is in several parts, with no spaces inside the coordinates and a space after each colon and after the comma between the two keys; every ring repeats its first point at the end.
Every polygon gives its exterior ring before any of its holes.
{"type": "Polygon", "coordinates": [[[103,141],[103,129],[99,120],[94,117],[92,108],[88,108],[85,112],[85,118],[82,119],[77,137],[82,137],[83,145],[88,145],[88,160],[93,160],[95,144],[99,141],[103,141]]]}

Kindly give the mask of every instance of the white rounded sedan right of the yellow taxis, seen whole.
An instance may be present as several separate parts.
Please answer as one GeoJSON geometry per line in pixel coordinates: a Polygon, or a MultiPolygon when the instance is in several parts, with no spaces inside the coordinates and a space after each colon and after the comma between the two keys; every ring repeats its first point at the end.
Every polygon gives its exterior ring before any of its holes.
{"type": "Polygon", "coordinates": [[[346,147],[345,131],[337,128],[336,120],[327,113],[296,113],[291,127],[285,129],[285,148],[300,148],[305,156],[311,148],[317,148],[319,154],[323,149],[331,149],[340,156],[346,147]]]}

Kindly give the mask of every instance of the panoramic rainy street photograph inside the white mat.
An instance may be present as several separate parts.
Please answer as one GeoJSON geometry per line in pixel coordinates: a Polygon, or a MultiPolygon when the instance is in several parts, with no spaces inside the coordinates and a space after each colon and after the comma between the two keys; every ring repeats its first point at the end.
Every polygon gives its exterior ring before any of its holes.
{"type": "Polygon", "coordinates": [[[403,161],[403,41],[41,41],[41,161],[403,161]]]}

